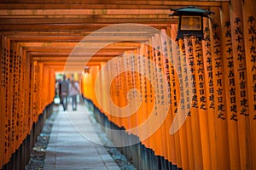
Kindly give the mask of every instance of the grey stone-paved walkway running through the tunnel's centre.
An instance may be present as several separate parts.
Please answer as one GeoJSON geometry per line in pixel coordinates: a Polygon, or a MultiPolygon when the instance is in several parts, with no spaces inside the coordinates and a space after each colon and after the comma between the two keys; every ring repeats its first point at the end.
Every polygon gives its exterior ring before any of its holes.
{"type": "Polygon", "coordinates": [[[119,169],[102,146],[90,120],[90,111],[79,105],[78,111],[59,107],[49,144],[44,169],[119,169]],[[97,143],[97,144],[96,144],[97,143]]]}

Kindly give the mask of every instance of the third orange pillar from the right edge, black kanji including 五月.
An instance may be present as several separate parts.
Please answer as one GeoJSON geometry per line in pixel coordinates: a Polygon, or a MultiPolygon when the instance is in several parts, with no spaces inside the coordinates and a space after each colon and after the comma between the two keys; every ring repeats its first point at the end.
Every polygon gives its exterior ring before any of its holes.
{"type": "Polygon", "coordinates": [[[228,137],[230,146],[230,168],[240,169],[239,142],[237,131],[236,86],[234,73],[234,59],[232,49],[232,34],[230,26],[230,10],[228,3],[223,3],[221,10],[221,27],[223,37],[224,56],[224,93],[227,111],[228,137]]]}

